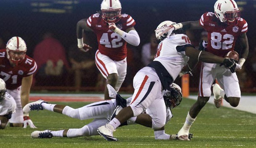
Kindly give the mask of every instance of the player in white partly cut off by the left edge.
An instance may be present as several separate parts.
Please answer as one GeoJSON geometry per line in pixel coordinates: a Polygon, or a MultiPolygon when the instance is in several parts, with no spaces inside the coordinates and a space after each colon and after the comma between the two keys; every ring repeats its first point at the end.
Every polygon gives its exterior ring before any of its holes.
{"type": "Polygon", "coordinates": [[[6,92],[6,85],[0,78],[0,129],[4,129],[12,113],[16,110],[16,102],[13,97],[6,92]]]}

